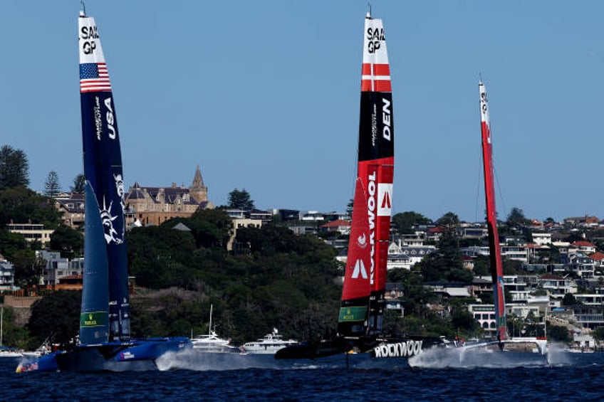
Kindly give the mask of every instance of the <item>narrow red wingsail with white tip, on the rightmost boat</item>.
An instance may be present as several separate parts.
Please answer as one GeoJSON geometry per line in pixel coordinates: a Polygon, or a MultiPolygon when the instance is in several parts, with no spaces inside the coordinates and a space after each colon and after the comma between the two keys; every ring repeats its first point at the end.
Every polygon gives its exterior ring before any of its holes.
{"type": "Polygon", "coordinates": [[[504,295],[504,265],[501,262],[501,248],[499,247],[499,233],[497,232],[489,100],[486,97],[486,88],[482,81],[479,81],[478,87],[480,92],[480,126],[482,134],[482,161],[484,167],[484,195],[486,198],[486,226],[489,232],[489,257],[491,259],[493,300],[495,303],[495,318],[497,322],[497,339],[499,341],[504,341],[508,338],[506,327],[506,301],[504,295]]]}

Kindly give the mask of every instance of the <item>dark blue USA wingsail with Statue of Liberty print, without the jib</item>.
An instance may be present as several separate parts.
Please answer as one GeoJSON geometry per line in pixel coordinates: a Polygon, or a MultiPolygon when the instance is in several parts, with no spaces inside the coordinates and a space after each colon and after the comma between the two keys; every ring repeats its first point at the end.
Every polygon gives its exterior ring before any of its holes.
{"type": "MultiPolygon", "coordinates": [[[[127,288],[124,179],[118,120],[95,20],[80,14],[78,26],[84,175],[94,191],[98,208],[95,214],[100,217],[103,227],[103,252],[108,260],[108,340],[128,341],[130,297],[127,288]]],[[[99,252],[95,250],[93,253],[99,252]]],[[[85,258],[85,263],[90,263],[88,258],[85,258]]],[[[84,310],[82,314],[85,314],[84,310]]]]}

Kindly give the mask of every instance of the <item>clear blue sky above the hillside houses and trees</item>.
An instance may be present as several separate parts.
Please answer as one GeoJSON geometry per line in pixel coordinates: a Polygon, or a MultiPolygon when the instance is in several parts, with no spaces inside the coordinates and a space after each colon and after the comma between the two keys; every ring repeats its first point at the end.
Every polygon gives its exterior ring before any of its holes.
{"type": "MultiPolygon", "coordinates": [[[[395,118],[394,213],[484,216],[478,77],[499,216],[604,218],[604,2],[372,2],[395,118]]],[[[4,0],[0,144],[31,188],[82,171],[79,1],[4,0]]],[[[126,184],[246,189],[259,208],[344,211],[353,197],[363,0],[89,0],[126,184]]]]}

